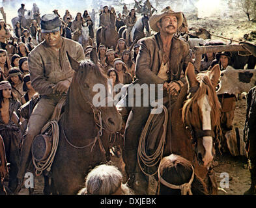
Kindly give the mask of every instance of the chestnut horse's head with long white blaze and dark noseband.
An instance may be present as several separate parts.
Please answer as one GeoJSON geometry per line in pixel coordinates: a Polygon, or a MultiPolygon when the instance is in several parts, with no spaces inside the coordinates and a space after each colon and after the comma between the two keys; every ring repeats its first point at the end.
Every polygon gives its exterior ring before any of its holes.
{"type": "Polygon", "coordinates": [[[220,77],[220,67],[195,76],[193,64],[188,64],[188,99],[182,109],[182,120],[192,132],[193,144],[199,165],[209,166],[214,159],[214,138],[220,129],[220,102],[215,86],[220,77]]]}

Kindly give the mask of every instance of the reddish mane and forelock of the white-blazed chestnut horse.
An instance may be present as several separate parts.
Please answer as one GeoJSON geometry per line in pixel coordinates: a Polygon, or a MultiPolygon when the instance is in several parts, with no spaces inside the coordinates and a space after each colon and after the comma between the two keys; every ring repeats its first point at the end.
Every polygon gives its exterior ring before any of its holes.
{"type": "Polygon", "coordinates": [[[220,128],[220,118],[221,118],[220,101],[218,99],[214,86],[212,86],[208,73],[199,73],[197,75],[197,81],[199,81],[199,88],[191,98],[188,98],[185,101],[182,108],[182,121],[188,125],[191,125],[188,114],[190,113],[190,110],[192,110],[193,122],[195,123],[201,122],[201,118],[202,118],[201,110],[199,110],[200,116],[198,116],[198,111],[195,110],[198,108],[195,106],[198,106],[197,101],[201,99],[205,94],[207,94],[210,107],[212,108],[210,112],[211,113],[210,116],[212,118],[212,125],[216,126],[217,130],[220,130],[221,129],[220,128]]]}

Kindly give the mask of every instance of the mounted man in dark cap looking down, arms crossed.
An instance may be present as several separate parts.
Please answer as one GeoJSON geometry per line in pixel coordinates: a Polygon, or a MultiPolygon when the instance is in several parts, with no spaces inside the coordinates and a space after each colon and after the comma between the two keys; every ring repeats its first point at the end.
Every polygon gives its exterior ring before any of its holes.
{"type": "Polygon", "coordinates": [[[23,138],[16,192],[20,190],[24,174],[31,162],[33,139],[51,117],[59,99],[66,96],[72,81],[74,70],[70,66],[67,53],[77,61],[85,59],[83,47],[78,42],[61,36],[63,28],[59,16],[45,14],[40,26],[44,41],[29,53],[28,61],[31,84],[42,98],[29,118],[23,138]]]}

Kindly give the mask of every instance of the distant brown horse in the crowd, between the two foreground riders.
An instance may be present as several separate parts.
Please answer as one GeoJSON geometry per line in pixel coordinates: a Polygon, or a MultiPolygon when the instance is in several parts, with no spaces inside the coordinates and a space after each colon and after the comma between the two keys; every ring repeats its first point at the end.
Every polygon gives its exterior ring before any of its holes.
{"type": "Polygon", "coordinates": [[[118,32],[114,25],[110,25],[107,28],[99,27],[96,32],[97,48],[100,44],[103,44],[108,48],[115,49],[115,47],[117,47],[118,38],[118,32]]]}

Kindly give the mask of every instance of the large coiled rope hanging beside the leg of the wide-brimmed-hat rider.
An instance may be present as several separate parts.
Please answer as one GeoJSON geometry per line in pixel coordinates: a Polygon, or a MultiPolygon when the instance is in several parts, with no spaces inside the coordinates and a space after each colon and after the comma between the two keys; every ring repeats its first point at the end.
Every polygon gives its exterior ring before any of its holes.
{"type": "Polygon", "coordinates": [[[153,174],[149,174],[143,170],[143,168],[141,167],[141,162],[147,167],[155,166],[159,161],[162,160],[163,153],[164,153],[164,145],[165,145],[165,138],[166,138],[166,131],[167,131],[167,122],[168,122],[168,110],[164,105],[162,105],[162,109],[164,109],[164,116],[165,116],[164,123],[163,123],[164,131],[160,138],[158,148],[156,148],[156,151],[152,153],[152,155],[147,155],[145,141],[146,141],[147,131],[149,130],[150,122],[152,122],[152,119],[156,114],[149,115],[147,123],[141,133],[141,137],[139,138],[139,146],[137,150],[137,162],[139,164],[139,168],[141,168],[141,171],[147,176],[155,175],[158,172],[158,170],[156,170],[156,172],[154,172],[153,174]]]}

